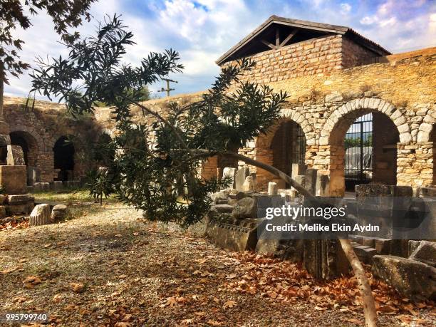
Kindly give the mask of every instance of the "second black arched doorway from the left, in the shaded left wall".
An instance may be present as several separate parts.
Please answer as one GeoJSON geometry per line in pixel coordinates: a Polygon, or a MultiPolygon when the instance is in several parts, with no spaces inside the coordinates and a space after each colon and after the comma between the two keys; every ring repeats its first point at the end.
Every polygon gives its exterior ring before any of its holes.
{"type": "Polygon", "coordinates": [[[74,153],[73,142],[66,136],[59,137],[53,147],[55,180],[73,180],[74,153]]]}

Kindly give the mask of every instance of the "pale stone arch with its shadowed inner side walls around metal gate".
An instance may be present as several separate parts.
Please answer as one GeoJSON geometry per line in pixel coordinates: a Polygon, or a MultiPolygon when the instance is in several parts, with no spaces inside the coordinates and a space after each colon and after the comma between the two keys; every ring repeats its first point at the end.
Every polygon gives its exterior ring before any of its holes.
{"type": "Polygon", "coordinates": [[[331,196],[342,196],[346,190],[346,132],[357,118],[368,113],[373,114],[374,133],[370,170],[372,177],[369,180],[388,185],[397,184],[398,147],[410,142],[412,137],[403,114],[390,103],[382,101],[375,101],[374,98],[352,100],[333,112],[326,121],[319,143],[328,152],[326,164],[330,175],[331,196]]]}

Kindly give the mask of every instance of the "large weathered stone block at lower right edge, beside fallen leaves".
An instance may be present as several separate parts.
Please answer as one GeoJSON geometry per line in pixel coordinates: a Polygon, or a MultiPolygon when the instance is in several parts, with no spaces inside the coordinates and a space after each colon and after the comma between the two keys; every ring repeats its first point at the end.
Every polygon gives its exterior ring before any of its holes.
{"type": "Polygon", "coordinates": [[[409,299],[436,297],[436,269],[400,256],[373,256],[373,274],[409,299]]]}

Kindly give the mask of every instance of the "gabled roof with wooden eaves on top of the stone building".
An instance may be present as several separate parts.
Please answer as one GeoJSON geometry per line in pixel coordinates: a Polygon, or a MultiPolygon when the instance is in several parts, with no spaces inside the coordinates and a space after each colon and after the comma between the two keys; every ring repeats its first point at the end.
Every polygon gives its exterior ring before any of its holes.
{"type": "Polygon", "coordinates": [[[279,17],[274,15],[269,17],[269,19],[266,19],[266,21],[264,21],[263,24],[261,24],[258,28],[256,28],[251,33],[249,33],[249,35],[243,38],[242,41],[239,41],[229,51],[227,51],[221,57],[219,57],[216,63],[218,65],[222,65],[222,63],[237,58],[237,56],[235,56],[237,52],[241,51],[246,46],[249,46],[251,42],[254,42],[254,38],[256,38],[256,36],[259,36],[259,34],[264,33],[269,28],[273,28],[272,25],[289,26],[291,28],[299,28],[300,30],[316,31],[326,34],[341,34],[341,35],[348,36],[353,41],[355,41],[355,43],[358,43],[361,46],[368,48],[370,51],[377,53],[379,56],[387,56],[391,54],[388,50],[380,46],[378,43],[371,41],[369,38],[365,38],[364,36],[354,31],[352,28],[349,28],[347,26],[315,23],[313,21],[301,21],[299,19],[286,19],[284,17],[279,17]]]}

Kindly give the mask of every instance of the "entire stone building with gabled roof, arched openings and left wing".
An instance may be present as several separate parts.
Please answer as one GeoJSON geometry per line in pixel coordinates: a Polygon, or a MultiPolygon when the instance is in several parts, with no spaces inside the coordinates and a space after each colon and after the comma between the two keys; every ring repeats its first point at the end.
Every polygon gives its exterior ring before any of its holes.
{"type": "MultiPolygon", "coordinates": [[[[366,182],[415,188],[436,184],[436,48],[391,54],[345,26],[271,16],[217,64],[232,65],[247,56],[256,65],[242,81],[285,90],[289,102],[281,120],[240,153],[288,173],[293,163],[306,164],[329,177],[331,195],[366,182]]],[[[147,105],[165,114],[168,103],[189,103],[201,94],[147,105]]],[[[6,98],[5,118],[11,143],[25,152],[29,184],[83,177],[91,165],[90,143],[112,135],[114,125],[109,108],[74,120],[63,105],[36,101],[33,110],[25,110],[19,98],[6,98]]],[[[202,175],[217,177],[224,167],[244,165],[214,157],[202,175]]],[[[249,170],[256,173],[259,190],[275,180],[256,167],[249,170]]]]}

